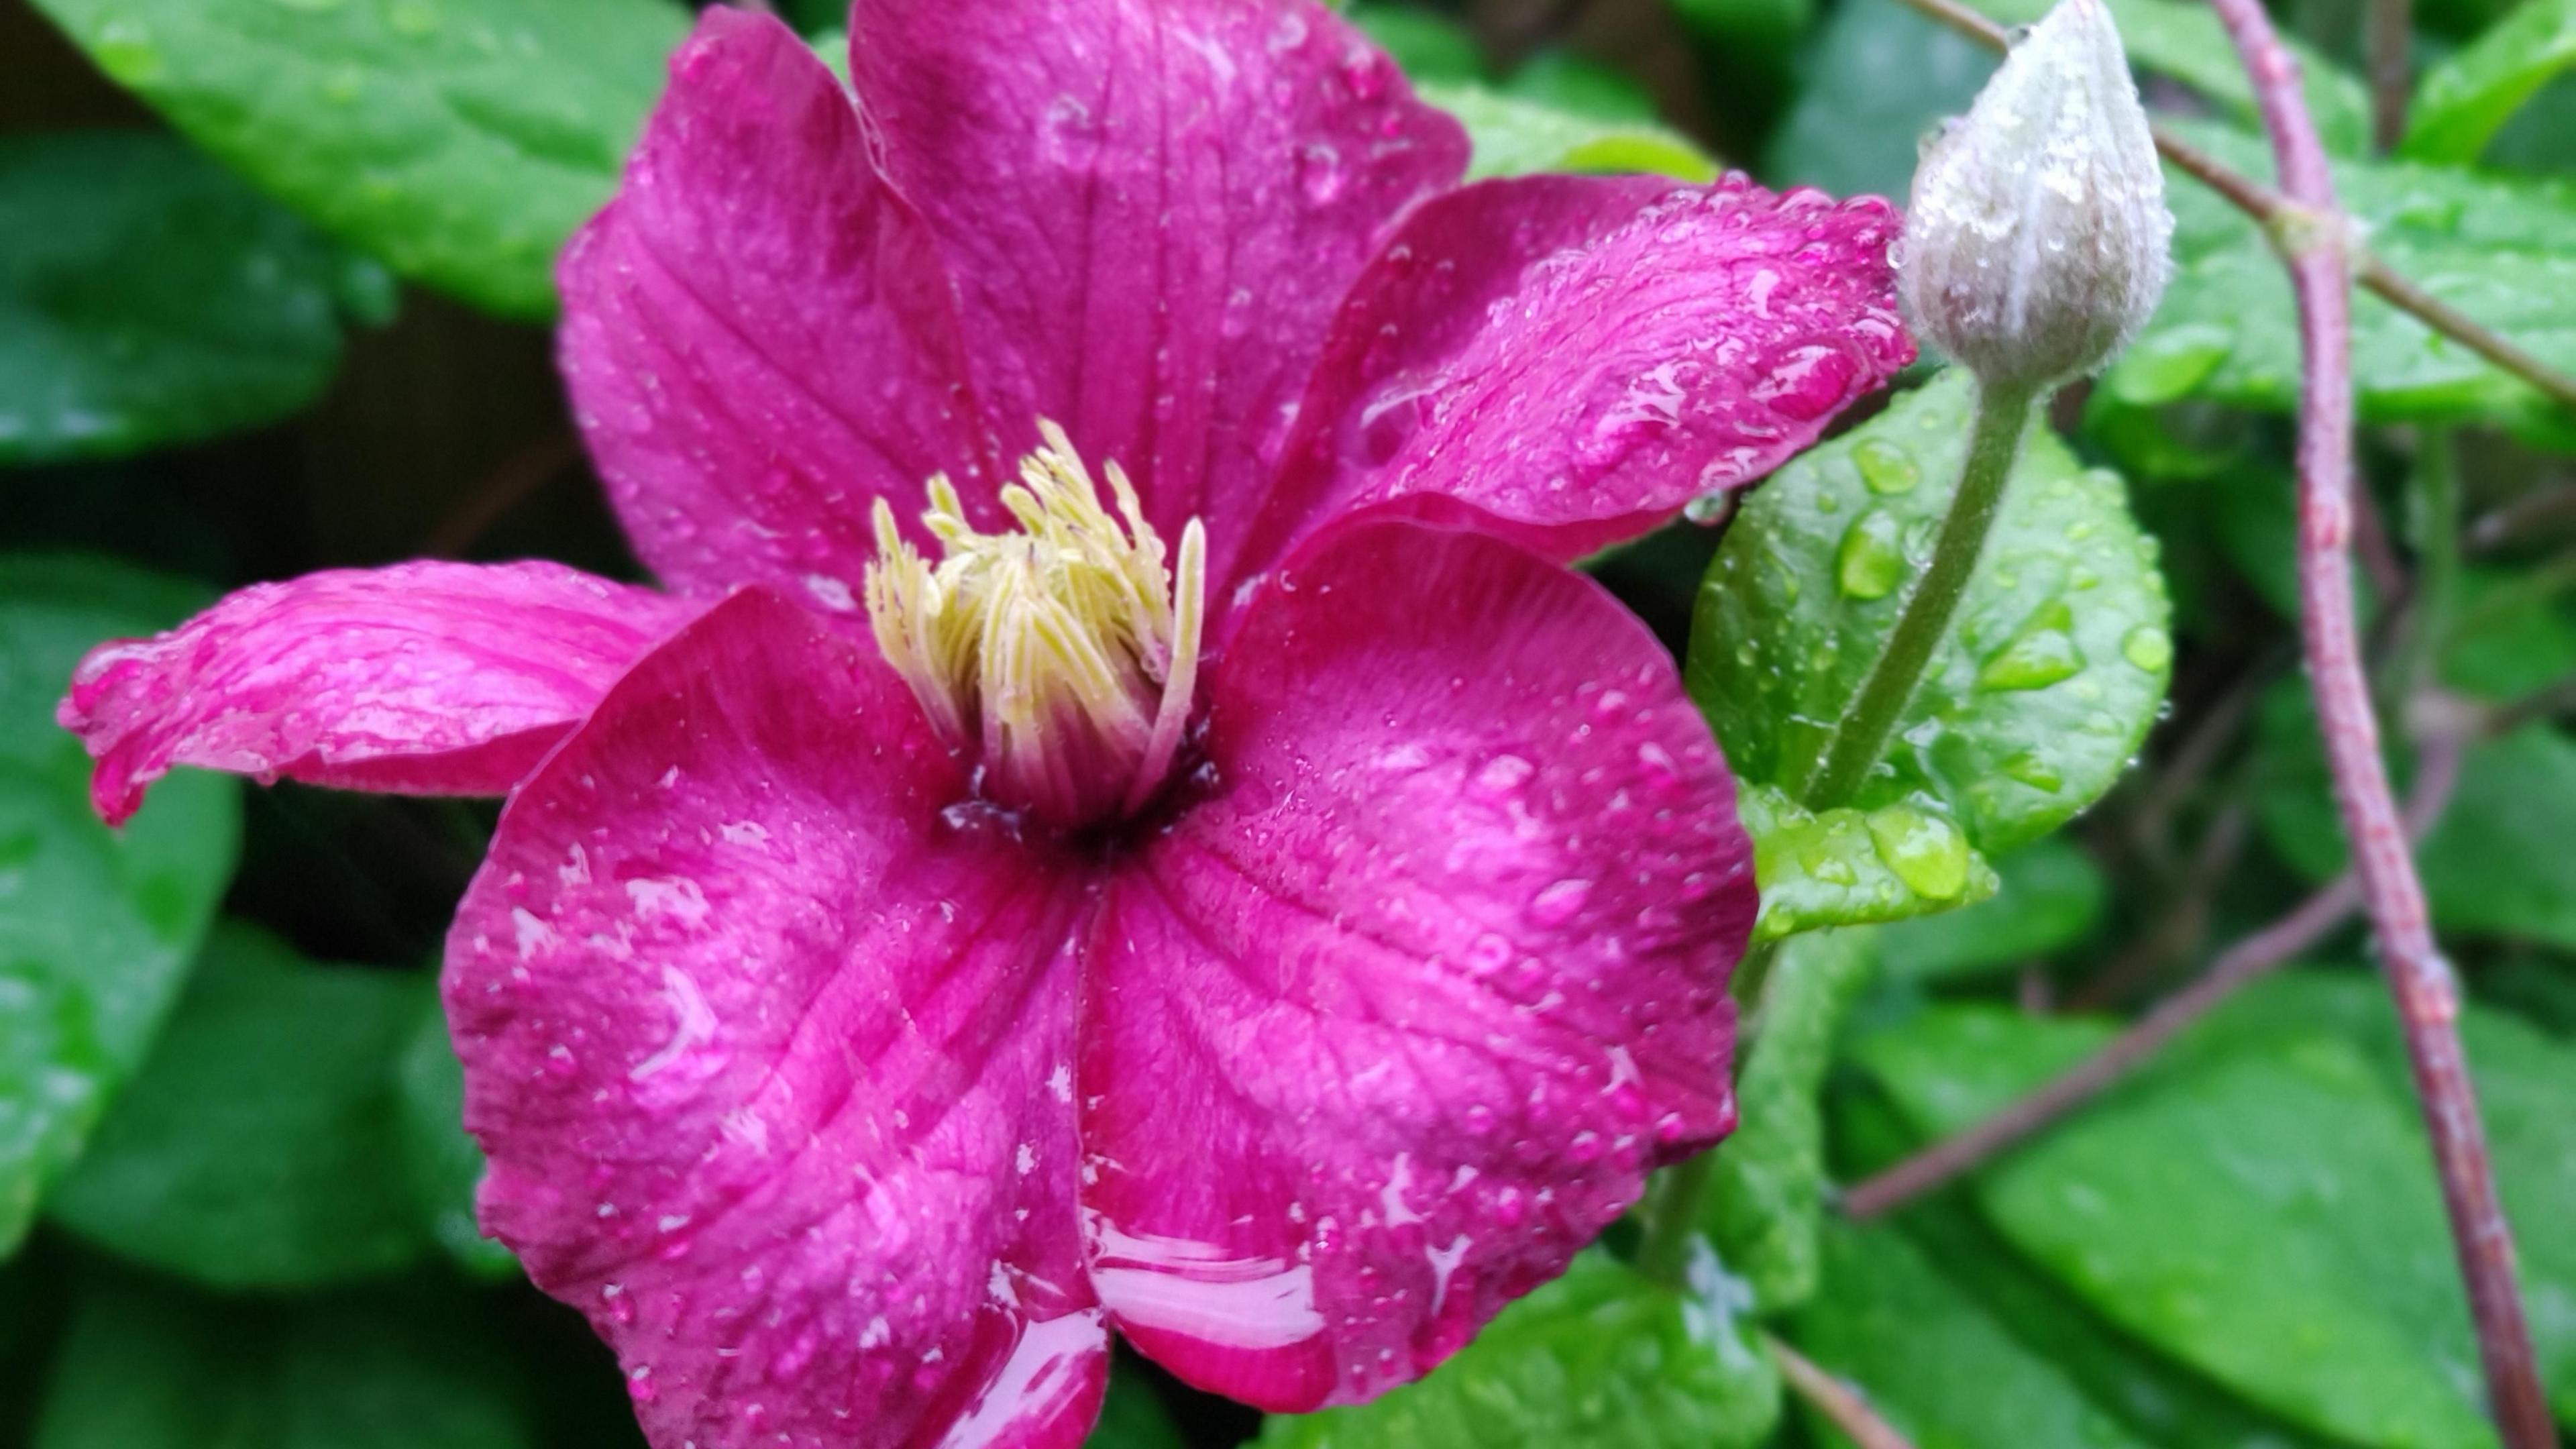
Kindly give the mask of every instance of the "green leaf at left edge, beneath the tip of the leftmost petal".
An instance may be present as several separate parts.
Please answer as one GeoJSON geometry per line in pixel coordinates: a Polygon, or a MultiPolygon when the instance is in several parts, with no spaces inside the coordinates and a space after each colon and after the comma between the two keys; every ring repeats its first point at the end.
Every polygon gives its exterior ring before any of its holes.
{"type": "Polygon", "coordinates": [[[54,701],[90,645],[198,593],[121,565],[0,557],[0,1258],[142,1065],[232,879],[229,779],[185,773],[108,830],[54,701]]]}

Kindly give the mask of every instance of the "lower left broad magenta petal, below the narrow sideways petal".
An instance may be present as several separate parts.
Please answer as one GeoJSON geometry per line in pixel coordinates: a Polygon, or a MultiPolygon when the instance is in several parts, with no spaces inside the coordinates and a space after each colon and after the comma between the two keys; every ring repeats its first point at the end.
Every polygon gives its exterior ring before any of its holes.
{"type": "Polygon", "coordinates": [[[484,1227],[659,1449],[1072,1446],[1082,884],[873,652],[750,590],[502,815],[448,936],[484,1227]]]}

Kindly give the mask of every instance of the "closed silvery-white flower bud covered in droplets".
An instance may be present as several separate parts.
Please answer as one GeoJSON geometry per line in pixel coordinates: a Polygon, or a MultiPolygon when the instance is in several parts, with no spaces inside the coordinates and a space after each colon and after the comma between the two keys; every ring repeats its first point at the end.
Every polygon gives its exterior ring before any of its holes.
{"type": "Polygon", "coordinates": [[[1914,333],[1986,387],[2099,369],[2156,309],[2174,214],[2102,0],[2058,0],[1924,150],[1901,289],[1914,333]]]}

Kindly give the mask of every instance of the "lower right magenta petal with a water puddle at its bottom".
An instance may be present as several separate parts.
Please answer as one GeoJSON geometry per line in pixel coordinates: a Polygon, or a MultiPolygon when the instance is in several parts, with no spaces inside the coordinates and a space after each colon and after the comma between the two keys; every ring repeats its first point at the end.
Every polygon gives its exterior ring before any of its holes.
{"type": "Polygon", "coordinates": [[[1206,794],[1087,938],[1092,1287],[1273,1410],[1419,1377],[1734,1124],[1734,784],[1597,585],[1329,531],[1216,673],[1206,794]]]}

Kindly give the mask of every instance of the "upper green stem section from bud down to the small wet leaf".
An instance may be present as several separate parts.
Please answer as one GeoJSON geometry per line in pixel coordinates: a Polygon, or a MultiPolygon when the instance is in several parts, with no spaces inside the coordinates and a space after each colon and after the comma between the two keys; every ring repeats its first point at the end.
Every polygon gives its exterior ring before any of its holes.
{"type": "Polygon", "coordinates": [[[1834,740],[1816,766],[1816,773],[1798,789],[1808,810],[1850,804],[1870,771],[1888,753],[1896,724],[1924,678],[1924,665],[1945,637],[1958,601],[1968,596],[1976,559],[1986,552],[1986,534],[2004,505],[2004,485],[2012,480],[2012,459],[2022,451],[2022,433],[2030,431],[2030,389],[1994,389],[1976,384],[1976,423],[1968,431],[1968,462],[1960,467],[1958,492],[1942,518],[1940,539],[1932,541],[1932,562],[1906,596],[1888,647],[1870,665],[1870,678],[1860,683],[1850,714],[1834,730],[1834,740]]]}

